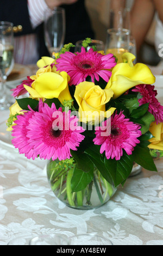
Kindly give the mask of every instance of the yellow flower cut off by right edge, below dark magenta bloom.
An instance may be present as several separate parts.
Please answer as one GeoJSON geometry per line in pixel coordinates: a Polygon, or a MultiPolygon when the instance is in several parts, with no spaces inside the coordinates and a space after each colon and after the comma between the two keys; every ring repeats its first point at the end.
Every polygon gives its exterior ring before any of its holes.
{"type": "Polygon", "coordinates": [[[149,142],[151,142],[151,144],[148,145],[148,148],[163,150],[163,123],[160,123],[158,125],[156,123],[152,123],[149,131],[152,133],[154,138],[149,139],[149,142]]]}

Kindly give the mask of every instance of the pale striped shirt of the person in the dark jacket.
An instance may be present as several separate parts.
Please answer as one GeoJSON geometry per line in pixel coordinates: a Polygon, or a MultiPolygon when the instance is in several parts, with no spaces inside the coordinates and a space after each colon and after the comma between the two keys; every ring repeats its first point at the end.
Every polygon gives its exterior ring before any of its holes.
{"type": "MultiPolygon", "coordinates": [[[[45,0],[28,0],[30,22],[33,29],[44,20],[44,12],[48,9],[45,0]]],[[[24,65],[35,64],[39,59],[37,52],[37,37],[35,34],[15,37],[14,42],[15,63],[24,65]]]]}

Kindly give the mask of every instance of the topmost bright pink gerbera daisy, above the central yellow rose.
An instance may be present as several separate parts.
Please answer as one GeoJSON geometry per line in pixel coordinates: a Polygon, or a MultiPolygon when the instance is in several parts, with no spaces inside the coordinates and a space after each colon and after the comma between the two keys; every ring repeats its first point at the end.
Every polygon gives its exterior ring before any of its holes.
{"type": "Polygon", "coordinates": [[[111,71],[108,69],[115,65],[113,54],[103,55],[92,48],[86,52],[84,47],[82,52],[60,54],[56,64],[57,70],[65,71],[71,77],[70,86],[84,82],[87,76],[91,77],[92,82],[95,82],[95,79],[99,81],[99,76],[108,82],[111,77],[111,71]]]}

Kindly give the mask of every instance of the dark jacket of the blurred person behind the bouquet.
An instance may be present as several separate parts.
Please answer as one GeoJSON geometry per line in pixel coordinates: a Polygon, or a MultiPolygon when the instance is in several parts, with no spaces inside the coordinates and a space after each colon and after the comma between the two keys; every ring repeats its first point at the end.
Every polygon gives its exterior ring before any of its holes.
{"type": "MultiPolygon", "coordinates": [[[[78,0],[72,5],[62,5],[66,11],[66,38],[65,44],[85,39],[94,38],[91,28],[89,15],[86,12],[84,0],[78,0]]],[[[39,54],[41,56],[49,55],[43,38],[43,24],[33,30],[28,13],[27,0],[1,0],[0,1],[0,20],[10,21],[14,26],[22,25],[23,31],[15,36],[37,34],[39,42],[39,54]]]]}

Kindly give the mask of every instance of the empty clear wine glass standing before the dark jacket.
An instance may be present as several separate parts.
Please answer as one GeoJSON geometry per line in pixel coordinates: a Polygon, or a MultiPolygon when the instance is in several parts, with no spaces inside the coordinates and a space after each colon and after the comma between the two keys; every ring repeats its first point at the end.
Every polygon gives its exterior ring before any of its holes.
{"type": "Polygon", "coordinates": [[[51,57],[60,52],[64,45],[66,32],[65,9],[55,7],[54,10],[46,10],[44,22],[45,42],[51,57]]]}

